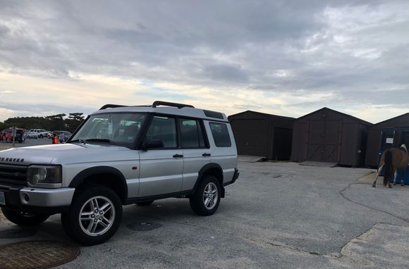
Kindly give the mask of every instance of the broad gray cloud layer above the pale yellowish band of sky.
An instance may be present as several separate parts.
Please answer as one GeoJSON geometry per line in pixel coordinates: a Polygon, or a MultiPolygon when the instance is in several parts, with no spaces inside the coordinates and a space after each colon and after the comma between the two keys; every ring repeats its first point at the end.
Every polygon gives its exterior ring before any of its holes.
{"type": "Polygon", "coordinates": [[[407,1],[0,6],[0,70],[13,73],[73,79],[73,71],[272,95],[334,92],[308,104],[315,108],[400,105],[409,88],[407,1]]]}

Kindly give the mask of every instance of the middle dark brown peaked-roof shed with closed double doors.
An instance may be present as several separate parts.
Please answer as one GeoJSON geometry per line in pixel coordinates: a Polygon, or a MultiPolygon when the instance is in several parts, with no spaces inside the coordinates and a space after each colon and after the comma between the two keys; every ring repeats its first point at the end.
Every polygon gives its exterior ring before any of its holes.
{"type": "Polygon", "coordinates": [[[291,158],[300,162],[363,165],[370,125],[372,123],[330,108],[304,115],[294,120],[291,158]]]}

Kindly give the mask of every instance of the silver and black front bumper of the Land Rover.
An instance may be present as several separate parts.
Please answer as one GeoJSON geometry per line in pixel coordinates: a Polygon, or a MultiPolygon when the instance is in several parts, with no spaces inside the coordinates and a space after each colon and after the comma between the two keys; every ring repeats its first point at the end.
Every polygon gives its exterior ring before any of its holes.
{"type": "Polygon", "coordinates": [[[55,211],[71,205],[74,188],[44,189],[0,184],[0,192],[4,193],[6,208],[19,208],[23,211],[55,211]]]}

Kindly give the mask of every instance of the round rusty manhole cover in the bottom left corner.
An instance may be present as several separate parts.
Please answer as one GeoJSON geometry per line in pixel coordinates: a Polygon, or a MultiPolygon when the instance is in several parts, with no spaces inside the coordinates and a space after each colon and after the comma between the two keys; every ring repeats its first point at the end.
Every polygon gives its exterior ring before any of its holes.
{"type": "Polygon", "coordinates": [[[61,242],[25,241],[0,246],[0,269],[51,268],[73,261],[80,249],[61,242]]]}

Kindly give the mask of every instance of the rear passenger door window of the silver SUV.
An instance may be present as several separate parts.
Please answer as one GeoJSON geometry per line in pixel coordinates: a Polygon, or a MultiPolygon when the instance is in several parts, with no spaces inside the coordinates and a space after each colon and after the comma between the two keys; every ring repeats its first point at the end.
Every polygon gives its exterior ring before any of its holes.
{"type": "Polygon", "coordinates": [[[198,120],[179,119],[183,148],[205,147],[202,127],[198,120]]]}

